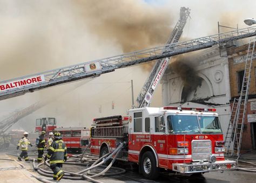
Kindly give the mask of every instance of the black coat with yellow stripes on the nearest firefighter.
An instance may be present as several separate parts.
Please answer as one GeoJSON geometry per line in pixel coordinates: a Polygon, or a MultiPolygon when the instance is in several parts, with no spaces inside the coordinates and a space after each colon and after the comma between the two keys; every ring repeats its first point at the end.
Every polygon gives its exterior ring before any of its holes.
{"type": "Polygon", "coordinates": [[[68,154],[66,153],[66,145],[63,140],[53,140],[46,156],[50,158],[50,164],[64,163],[64,156],[66,157],[68,154]]]}

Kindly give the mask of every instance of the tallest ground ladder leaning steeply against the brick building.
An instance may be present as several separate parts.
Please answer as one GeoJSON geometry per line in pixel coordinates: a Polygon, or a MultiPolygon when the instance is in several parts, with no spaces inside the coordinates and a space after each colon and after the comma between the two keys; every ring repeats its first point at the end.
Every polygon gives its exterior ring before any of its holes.
{"type": "Polygon", "coordinates": [[[244,129],[245,116],[246,116],[246,107],[248,102],[248,94],[250,89],[251,82],[251,72],[252,72],[252,59],[255,49],[256,39],[251,39],[248,45],[247,57],[245,62],[245,73],[244,78],[242,79],[241,93],[237,105],[237,112],[235,121],[233,122],[234,127],[234,136],[233,136],[233,148],[231,151],[231,156],[238,157],[240,156],[240,147],[242,142],[242,130],[244,129]]]}

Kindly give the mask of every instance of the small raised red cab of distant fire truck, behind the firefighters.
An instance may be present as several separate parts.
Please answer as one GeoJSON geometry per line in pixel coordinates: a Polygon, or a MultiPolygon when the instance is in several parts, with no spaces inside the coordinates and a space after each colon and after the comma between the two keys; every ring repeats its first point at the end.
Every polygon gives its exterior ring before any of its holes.
{"type": "Polygon", "coordinates": [[[42,117],[36,119],[36,131],[53,131],[56,128],[56,118],[55,117],[42,117]]]}

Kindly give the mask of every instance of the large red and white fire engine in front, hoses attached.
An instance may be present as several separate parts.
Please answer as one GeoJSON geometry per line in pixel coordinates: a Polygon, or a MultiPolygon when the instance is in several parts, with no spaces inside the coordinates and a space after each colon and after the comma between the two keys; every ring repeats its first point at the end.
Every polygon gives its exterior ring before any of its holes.
{"type": "Polygon", "coordinates": [[[92,154],[103,156],[126,142],[118,159],[137,163],[149,179],[163,169],[193,174],[237,168],[236,161],[224,159],[215,109],[146,107],[130,109],[128,114],[93,120],[92,154]]]}

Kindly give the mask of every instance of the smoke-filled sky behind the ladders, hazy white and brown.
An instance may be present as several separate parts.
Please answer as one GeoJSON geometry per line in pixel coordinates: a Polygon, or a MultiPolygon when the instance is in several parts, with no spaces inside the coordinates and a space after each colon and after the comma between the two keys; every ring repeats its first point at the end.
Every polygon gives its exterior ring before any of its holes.
{"type": "MultiPolygon", "coordinates": [[[[255,16],[254,1],[0,0],[0,81],[165,44],[181,6],[191,9],[192,19],[183,33],[190,38],[217,33],[218,21],[245,27],[242,20],[255,16]]],[[[95,117],[125,115],[131,107],[129,82],[134,82],[136,99],[149,74],[144,67],[118,69],[87,83],[79,81],[81,87],[56,98],[14,128],[32,131],[35,119],[45,116],[56,117],[58,126],[90,126],[95,117]],[[100,105],[102,113],[98,112],[100,105]]],[[[0,101],[0,116],[74,85],[0,101]]],[[[152,106],[161,105],[160,93],[159,86],[152,106]]]]}

